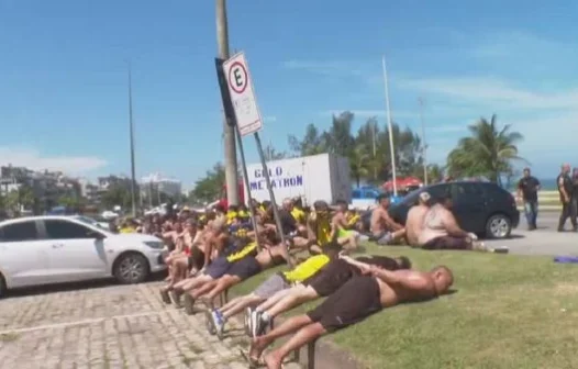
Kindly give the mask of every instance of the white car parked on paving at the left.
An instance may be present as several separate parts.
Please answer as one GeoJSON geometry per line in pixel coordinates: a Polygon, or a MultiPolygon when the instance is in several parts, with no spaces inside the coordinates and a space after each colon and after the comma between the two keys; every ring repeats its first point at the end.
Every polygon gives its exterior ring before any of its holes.
{"type": "Polygon", "coordinates": [[[13,288],[109,277],[143,282],[166,269],[165,253],[154,236],[113,234],[85,216],[0,222],[0,297],[13,288]]]}

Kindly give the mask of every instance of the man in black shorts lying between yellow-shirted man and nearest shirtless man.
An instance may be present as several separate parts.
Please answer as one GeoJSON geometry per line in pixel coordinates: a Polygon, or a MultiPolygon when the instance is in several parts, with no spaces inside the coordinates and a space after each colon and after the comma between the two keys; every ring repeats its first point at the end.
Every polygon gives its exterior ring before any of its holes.
{"type": "Polygon", "coordinates": [[[385,256],[358,257],[353,259],[341,256],[331,261],[319,273],[309,278],[300,284],[292,287],[269,298],[251,313],[248,320],[249,331],[253,337],[264,334],[270,321],[305,302],[319,298],[329,297],[337,291],[349,279],[369,270],[370,266],[379,266],[386,270],[410,269],[411,261],[407,257],[388,258],[385,256]]]}

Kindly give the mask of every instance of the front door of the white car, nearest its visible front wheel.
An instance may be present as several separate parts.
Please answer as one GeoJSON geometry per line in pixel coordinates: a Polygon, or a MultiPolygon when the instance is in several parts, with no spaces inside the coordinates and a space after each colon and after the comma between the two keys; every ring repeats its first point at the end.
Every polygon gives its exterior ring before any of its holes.
{"type": "Polygon", "coordinates": [[[58,282],[104,277],[104,235],[64,219],[45,220],[44,237],[51,243],[49,267],[58,282]],[[97,238],[97,234],[102,238],[97,238]]]}

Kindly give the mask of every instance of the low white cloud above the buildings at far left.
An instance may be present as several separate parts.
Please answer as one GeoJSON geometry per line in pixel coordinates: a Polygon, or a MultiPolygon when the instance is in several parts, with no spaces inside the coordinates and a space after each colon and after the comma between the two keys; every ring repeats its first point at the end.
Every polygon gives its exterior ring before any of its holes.
{"type": "Polygon", "coordinates": [[[0,146],[0,165],[77,175],[101,169],[108,163],[95,156],[46,156],[35,149],[0,146]]]}

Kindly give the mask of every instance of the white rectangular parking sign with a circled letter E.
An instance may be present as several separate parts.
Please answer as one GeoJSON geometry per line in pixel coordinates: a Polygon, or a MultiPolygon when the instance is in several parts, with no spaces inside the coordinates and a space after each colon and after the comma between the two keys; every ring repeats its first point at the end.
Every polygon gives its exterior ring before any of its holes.
{"type": "Polygon", "coordinates": [[[245,54],[234,55],[223,64],[223,69],[241,135],[258,132],[263,127],[263,120],[245,54]]]}

